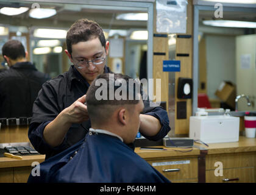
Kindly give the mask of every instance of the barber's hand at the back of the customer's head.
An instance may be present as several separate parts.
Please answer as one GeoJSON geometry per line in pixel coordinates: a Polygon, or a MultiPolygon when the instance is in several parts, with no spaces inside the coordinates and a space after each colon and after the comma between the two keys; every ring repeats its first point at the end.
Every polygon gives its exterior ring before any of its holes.
{"type": "Polygon", "coordinates": [[[73,104],[71,104],[68,108],[65,108],[63,112],[66,120],[71,123],[82,123],[89,119],[87,105],[85,105],[85,97],[77,99],[73,104]]]}

